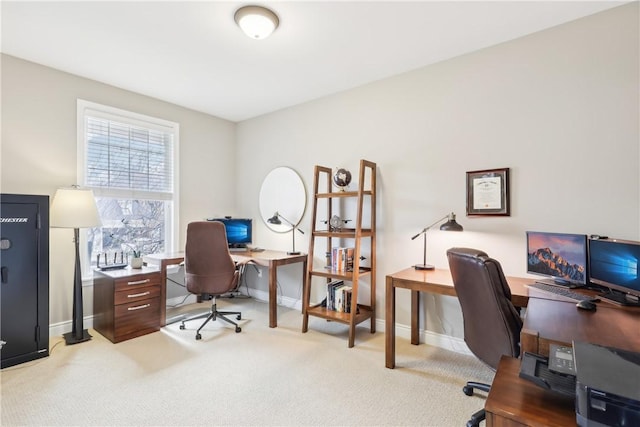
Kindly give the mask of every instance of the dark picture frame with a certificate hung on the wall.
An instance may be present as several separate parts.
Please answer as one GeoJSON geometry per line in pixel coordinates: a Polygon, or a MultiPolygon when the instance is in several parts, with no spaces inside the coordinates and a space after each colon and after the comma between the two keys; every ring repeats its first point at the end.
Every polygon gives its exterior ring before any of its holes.
{"type": "Polygon", "coordinates": [[[509,216],[509,168],[467,172],[467,216],[509,216]]]}

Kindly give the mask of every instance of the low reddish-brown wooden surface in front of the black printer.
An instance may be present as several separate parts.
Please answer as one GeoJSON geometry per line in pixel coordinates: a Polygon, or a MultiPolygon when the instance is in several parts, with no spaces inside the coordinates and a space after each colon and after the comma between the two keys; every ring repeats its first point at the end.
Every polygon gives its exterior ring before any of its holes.
{"type": "Polygon", "coordinates": [[[519,373],[520,359],[502,356],[484,405],[487,427],[576,425],[574,399],[538,387],[519,373]]]}

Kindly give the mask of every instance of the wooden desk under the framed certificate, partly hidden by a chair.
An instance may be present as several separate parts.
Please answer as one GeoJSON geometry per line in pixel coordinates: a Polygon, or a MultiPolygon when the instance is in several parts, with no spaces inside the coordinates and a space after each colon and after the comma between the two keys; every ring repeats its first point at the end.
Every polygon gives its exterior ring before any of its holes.
{"type": "MultiPolygon", "coordinates": [[[[529,300],[527,284],[533,279],[507,277],[511,299],[516,307],[526,307],[529,300]]],[[[445,269],[416,270],[407,268],[386,277],[385,289],[385,366],[393,369],[396,360],[396,288],[411,290],[411,344],[420,343],[420,292],[457,296],[451,272],[445,269]]]]}

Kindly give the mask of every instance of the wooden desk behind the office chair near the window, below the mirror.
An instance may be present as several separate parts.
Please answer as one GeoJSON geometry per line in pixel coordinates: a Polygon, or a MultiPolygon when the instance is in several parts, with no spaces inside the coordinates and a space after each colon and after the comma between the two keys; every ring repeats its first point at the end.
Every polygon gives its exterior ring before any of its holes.
{"type": "MultiPolygon", "coordinates": [[[[269,327],[275,328],[278,326],[278,300],[277,300],[277,288],[278,288],[278,267],[281,265],[302,263],[302,284],[307,276],[307,255],[287,255],[286,252],[265,250],[262,252],[231,252],[231,257],[236,262],[251,260],[255,264],[269,268],[269,327]]],[[[180,264],[184,260],[184,252],[174,252],[165,254],[152,254],[146,257],[152,262],[156,262],[160,266],[162,293],[160,295],[161,301],[167,299],[167,266],[180,264]]],[[[166,324],[167,307],[166,304],[161,304],[161,319],[162,325],[166,324]]]]}

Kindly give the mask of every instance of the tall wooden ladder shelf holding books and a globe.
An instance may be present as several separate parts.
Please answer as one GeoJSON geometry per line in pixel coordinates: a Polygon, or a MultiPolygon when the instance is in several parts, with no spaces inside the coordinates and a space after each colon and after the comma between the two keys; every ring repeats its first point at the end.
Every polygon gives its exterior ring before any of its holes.
{"type": "MultiPolygon", "coordinates": [[[[309,244],[309,258],[307,262],[307,280],[305,281],[302,309],[303,323],[302,332],[307,332],[309,326],[309,316],[316,316],[326,320],[340,322],[349,325],[349,347],[355,343],[356,325],[365,320],[371,322],[371,333],[376,331],[376,164],[367,160],[360,160],[359,179],[356,191],[334,190],[332,185],[334,171],[324,166],[316,166],[314,169],[313,184],[313,213],[312,213],[312,233],[309,244]],[[322,201],[326,200],[325,203],[322,201]],[[356,204],[356,219],[353,228],[332,229],[329,219],[341,213],[346,204],[356,204]],[[321,204],[326,207],[319,206],[321,204]],[[339,206],[342,205],[342,206],[339,206]],[[342,208],[342,209],[341,209],[342,208]],[[319,217],[319,211],[323,211],[326,218],[319,217]],[[365,213],[366,212],[366,213],[365,213]],[[363,218],[366,215],[366,218],[363,218]],[[363,228],[363,219],[366,220],[363,228]],[[323,223],[326,226],[323,226],[323,223]],[[316,262],[314,259],[314,249],[316,239],[326,240],[326,254],[331,253],[334,246],[342,246],[342,242],[354,248],[353,268],[351,271],[332,270],[328,257],[324,263],[316,262]],[[363,261],[362,241],[369,239],[369,253],[366,254],[366,261],[369,267],[361,266],[363,261]],[[322,265],[318,265],[322,264],[322,265]],[[358,288],[361,285],[360,279],[365,277],[370,286],[370,298],[366,303],[358,299],[358,288]],[[312,304],[311,288],[314,286],[314,278],[325,278],[322,281],[326,289],[326,284],[332,280],[344,280],[350,282],[351,290],[351,311],[349,313],[328,309],[323,302],[312,304]]],[[[322,213],[320,213],[322,214],[322,213]]],[[[324,254],[323,254],[324,255],[324,254]]],[[[315,286],[318,286],[316,281],[315,286]]]]}

